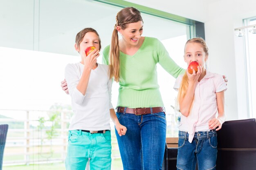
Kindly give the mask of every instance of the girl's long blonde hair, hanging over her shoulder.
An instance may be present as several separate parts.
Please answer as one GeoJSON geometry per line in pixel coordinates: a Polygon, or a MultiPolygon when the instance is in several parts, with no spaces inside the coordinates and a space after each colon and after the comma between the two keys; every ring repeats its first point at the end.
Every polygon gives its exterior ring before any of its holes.
{"type": "MultiPolygon", "coordinates": [[[[188,40],[186,42],[186,44],[188,43],[191,43],[191,42],[196,42],[196,43],[199,43],[202,45],[203,49],[204,49],[204,53],[205,53],[205,57],[206,59],[208,58],[208,55],[209,55],[209,49],[208,49],[208,46],[206,44],[206,42],[204,41],[204,39],[202,38],[192,38],[190,40],[188,40]]],[[[186,44],[185,44],[185,48],[186,48],[186,44]]],[[[185,54],[185,48],[184,48],[184,54],[185,54]]],[[[185,55],[184,55],[185,57],[185,55]]],[[[184,96],[186,95],[186,91],[188,90],[188,86],[189,86],[189,78],[188,76],[186,75],[186,72],[182,78],[182,81],[180,83],[180,88],[179,88],[179,92],[178,92],[178,96],[177,96],[177,99],[176,99],[176,108],[178,108],[179,104],[180,104],[180,101],[181,99],[184,98],[184,96]]],[[[193,97],[194,99],[194,97],[193,97]]],[[[191,108],[193,106],[193,103],[191,105],[191,108]]]]}

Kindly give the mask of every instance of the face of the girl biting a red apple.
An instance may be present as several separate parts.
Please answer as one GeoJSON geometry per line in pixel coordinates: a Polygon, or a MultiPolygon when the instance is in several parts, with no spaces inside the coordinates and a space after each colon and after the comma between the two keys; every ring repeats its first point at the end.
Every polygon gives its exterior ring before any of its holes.
{"type": "Polygon", "coordinates": [[[198,62],[204,68],[208,56],[204,52],[204,48],[200,43],[189,42],[185,46],[184,61],[189,65],[191,62],[198,62]]]}

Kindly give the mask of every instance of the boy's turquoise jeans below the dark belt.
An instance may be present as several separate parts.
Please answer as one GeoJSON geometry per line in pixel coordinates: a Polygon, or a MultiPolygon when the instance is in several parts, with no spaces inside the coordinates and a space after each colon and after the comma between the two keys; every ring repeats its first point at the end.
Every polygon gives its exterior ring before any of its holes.
{"type": "Polygon", "coordinates": [[[70,130],[68,136],[66,170],[85,170],[90,158],[90,170],[110,170],[111,134],[70,130]]]}

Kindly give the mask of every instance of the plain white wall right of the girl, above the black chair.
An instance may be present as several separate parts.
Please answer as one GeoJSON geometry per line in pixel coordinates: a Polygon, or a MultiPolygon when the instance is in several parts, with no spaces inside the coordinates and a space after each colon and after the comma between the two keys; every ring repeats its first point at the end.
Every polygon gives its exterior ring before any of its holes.
{"type": "Polygon", "coordinates": [[[229,79],[226,112],[229,119],[247,119],[247,87],[244,38],[234,35],[243,19],[256,16],[255,0],[221,0],[209,4],[204,23],[206,41],[211,48],[211,68],[229,79]]]}

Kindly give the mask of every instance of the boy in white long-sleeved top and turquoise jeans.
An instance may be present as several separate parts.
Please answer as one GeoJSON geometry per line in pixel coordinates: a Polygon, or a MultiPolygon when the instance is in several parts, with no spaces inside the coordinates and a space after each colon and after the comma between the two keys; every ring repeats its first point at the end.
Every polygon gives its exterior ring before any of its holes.
{"type": "Polygon", "coordinates": [[[110,117],[120,136],[125,135],[126,127],[119,123],[111,104],[112,80],[108,66],[97,63],[101,49],[97,31],[85,28],[77,33],[75,49],[81,55],[81,62],[65,68],[74,111],[69,127],[66,169],[85,170],[90,158],[90,170],[110,170],[110,117]],[[89,46],[96,49],[86,56],[85,49],[89,46]]]}

